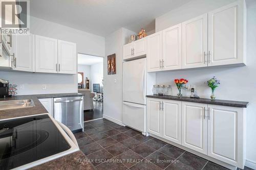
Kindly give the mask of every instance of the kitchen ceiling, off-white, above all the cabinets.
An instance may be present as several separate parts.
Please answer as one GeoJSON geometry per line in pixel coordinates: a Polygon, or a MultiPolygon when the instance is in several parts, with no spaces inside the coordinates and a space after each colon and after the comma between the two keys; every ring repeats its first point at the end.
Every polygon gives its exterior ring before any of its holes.
{"type": "Polygon", "coordinates": [[[30,14],[100,36],[155,29],[155,18],[191,0],[31,0],[30,14]]]}

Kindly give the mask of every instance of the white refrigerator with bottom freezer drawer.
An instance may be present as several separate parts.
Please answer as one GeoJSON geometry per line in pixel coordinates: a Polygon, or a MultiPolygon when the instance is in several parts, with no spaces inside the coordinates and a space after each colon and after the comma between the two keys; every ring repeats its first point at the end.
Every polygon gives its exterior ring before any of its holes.
{"type": "Polygon", "coordinates": [[[123,124],[146,132],[146,58],[123,63],[123,124]]]}

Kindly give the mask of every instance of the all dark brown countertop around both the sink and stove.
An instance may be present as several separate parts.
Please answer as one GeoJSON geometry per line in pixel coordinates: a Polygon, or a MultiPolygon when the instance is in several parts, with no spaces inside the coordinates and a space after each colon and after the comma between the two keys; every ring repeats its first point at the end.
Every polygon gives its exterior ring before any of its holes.
{"type": "MultiPolygon", "coordinates": [[[[0,120],[14,117],[30,116],[36,114],[48,113],[44,106],[38,99],[42,98],[60,98],[66,96],[82,96],[81,93],[58,93],[58,94],[34,94],[34,95],[16,95],[11,98],[0,98],[0,101],[10,100],[26,100],[32,99],[35,107],[0,110],[0,120]]],[[[72,154],[62,156],[52,161],[37,165],[31,169],[95,169],[95,167],[86,161],[77,162],[78,159],[87,160],[87,157],[81,152],[77,151],[72,154]]]]}

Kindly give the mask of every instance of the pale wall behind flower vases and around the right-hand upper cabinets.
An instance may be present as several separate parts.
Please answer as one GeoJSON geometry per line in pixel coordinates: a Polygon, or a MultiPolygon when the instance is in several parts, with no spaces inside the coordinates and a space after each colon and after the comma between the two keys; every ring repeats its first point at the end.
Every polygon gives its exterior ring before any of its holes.
{"type": "MultiPolygon", "coordinates": [[[[156,18],[156,31],[176,25],[212,9],[226,5],[233,1],[191,1],[180,8],[156,18]]],[[[172,84],[173,94],[177,94],[173,80],[185,78],[189,84],[196,85],[201,98],[209,98],[210,89],[204,84],[208,79],[216,76],[221,85],[216,90],[217,99],[247,101],[247,161],[256,165],[256,7],[247,6],[247,66],[230,68],[204,68],[182,71],[157,73],[157,83],[172,84]]]]}

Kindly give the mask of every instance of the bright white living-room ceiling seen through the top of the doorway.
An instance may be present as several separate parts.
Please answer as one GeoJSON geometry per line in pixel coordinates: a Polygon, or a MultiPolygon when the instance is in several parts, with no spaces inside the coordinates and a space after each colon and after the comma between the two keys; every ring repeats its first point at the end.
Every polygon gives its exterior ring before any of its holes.
{"type": "Polygon", "coordinates": [[[102,63],[102,57],[90,56],[85,54],[78,54],[78,64],[81,65],[93,65],[97,63],[102,63]]]}

